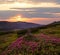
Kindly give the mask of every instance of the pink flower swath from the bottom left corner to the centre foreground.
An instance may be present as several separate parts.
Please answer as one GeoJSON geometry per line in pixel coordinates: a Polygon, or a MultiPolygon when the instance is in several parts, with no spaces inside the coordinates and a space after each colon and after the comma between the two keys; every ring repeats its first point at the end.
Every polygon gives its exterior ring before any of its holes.
{"type": "Polygon", "coordinates": [[[21,49],[24,48],[25,46],[27,46],[27,51],[28,50],[32,50],[34,51],[35,48],[37,48],[38,44],[36,42],[32,42],[32,41],[25,41],[23,37],[18,38],[16,41],[14,41],[11,45],[8,46],[8,48],[1,54],[1,55],[6,55],[6,54],[10,54],[10,52],[12,52],[15,48],[21,49]]]}

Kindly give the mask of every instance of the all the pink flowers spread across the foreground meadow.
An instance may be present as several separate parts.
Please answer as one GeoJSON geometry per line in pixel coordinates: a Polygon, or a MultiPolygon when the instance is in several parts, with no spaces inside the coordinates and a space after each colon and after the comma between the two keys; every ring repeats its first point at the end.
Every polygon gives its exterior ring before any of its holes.
{"type": "MultiPolygon", "coordinates": [[[[36,52],[40,51],[39,53],[41,54],[41,52],[44,50],[44,46],[46,47],[45,43],[49,44],[48,43],[49,41],[51,43],[60,43],[60,38],[50,37],[50,36],[44,35],[44,34],[40,34],[39,38],[40,38],[39,42],[35,42],[35,41],[26,41],[26,40],[24,40],[23,36],[19,37],[16,41],[11,43],[11,45],[9,45],[8,48],[5,51],[3,51],[3,53],[1,55],[11,54],[11,52],[15,51],[16,49],[18,49],[17,50],[18,52],[20,51],[19,53],[23,52],[24,54],[26,53],[26,55],[28,54],[28,52],[30,52],[30,50],[32,53],[36,53],[36,52]],[[44,40],[44,42],[41,42],[41,40],[44,40]],[[36,49],[37,49],[37,51],[35,52],[36,49]]],[[[50,47],[51,47],[51,45],[50,45],[50,47]]],[[[44,50],[44,52],[45,52],[45,50],[44,50]]],[[[22,54],[22,55],[24,55],[24,54],[22,54]]],[[[19,54],[17,54],[17,55],[19,55],[19,54]]]]}

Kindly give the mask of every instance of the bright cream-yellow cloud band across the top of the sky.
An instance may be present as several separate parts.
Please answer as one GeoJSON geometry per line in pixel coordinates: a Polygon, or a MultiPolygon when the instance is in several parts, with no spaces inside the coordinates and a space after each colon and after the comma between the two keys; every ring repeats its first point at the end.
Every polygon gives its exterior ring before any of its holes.
{"type": "Polygon", "coordinates": [[[2,8],[9,9],[9,8],[12,8],[12,7],[17,7],[17,8],[18,7],[19,8],[60,7],[60,0],[11,0],[11,1],[10,0],[9,1],[1,0],[1,1],[2,2],[0,2],[0,7],[1,7],[0,10],[2,10],[2,8]]]}

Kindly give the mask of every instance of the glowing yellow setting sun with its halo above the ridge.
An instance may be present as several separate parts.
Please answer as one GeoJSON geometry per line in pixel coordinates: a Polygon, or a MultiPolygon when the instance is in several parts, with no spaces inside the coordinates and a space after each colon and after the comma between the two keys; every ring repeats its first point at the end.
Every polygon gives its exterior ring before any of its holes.
{"type": "Polygon", "coordinates": [[[17,22],[17,21],[26,22],[27,20],[28,18],[25,18],[22,15],[16,15],[7,19],[7,21],[10,21],[10,22],[17,22]]]}

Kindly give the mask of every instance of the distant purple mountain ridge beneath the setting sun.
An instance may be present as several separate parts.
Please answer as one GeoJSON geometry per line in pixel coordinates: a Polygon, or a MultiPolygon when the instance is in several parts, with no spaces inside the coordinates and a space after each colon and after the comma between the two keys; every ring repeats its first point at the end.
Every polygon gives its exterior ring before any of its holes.
{"type": "Polygon", "coordinates": [[[40,27],[42,25],[28,22],[8,22],[0,21],[0,30],[15,30],[40,27]]]}

